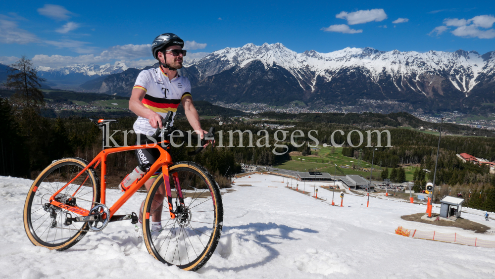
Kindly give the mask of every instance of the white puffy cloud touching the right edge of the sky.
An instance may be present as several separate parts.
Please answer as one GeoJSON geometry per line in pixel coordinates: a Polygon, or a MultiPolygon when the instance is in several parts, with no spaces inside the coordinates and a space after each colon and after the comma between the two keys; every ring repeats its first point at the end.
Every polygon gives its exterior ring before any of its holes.
{"type": "Polygon", "coordinates": [[[471,37],[479,39],[492,39],[495,38],[495,30],[488,29],[492,28],[495,23],[495,17],[493,15],[478,15],[471,19],[458,19],[458,18],[446,18],[444,19],[444,24],[446,26],[439,26],[435,28],[429,35],[437,32],[437,36],[445,32],[448,28],[447,26],[457,27],[450,33],[458,37],[471,37]],[[483,30],[483,29],[488,30],[483,30]],[[439,32],[441,31],[441,32],[439,32]]]}

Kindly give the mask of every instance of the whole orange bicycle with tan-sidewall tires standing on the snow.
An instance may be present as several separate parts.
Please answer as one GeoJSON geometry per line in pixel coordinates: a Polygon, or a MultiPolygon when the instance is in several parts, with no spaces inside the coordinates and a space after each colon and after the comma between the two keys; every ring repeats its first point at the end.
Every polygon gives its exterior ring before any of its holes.
{"type": "MultiPolygon", "coordinates": [[[[168,135],[172,114],[163,119],[168,135]]],[[[93,119],[103,131],[115,120],[93,119]]],[[[115,215],[122,205],[160,168],[162,173],[148,190],[143,209],[143,236],[148,252],[157,260],[184,270],[201,268],[215,250],[223,225],[223,206],[218,184],[194,162],[172,162],[170,140],[159,138],[158,128],[149,142],[104,149],[90,162],[81,158],[53,161],[36,178],[24,205],[24,228],[34,245],[50,250],[72,247],[88,232],[99,232],[110,222],[138,222],[133,212],[115,215]],[[154,139],[154,140],[153,140],[154,139]],[[148,144],[149,143],[149,144],[148,144]],[[106,157],[116,152],[157,148],[160,157],[134,181],[110,207],[106,199],[106,157]],[[95,169],[100,165],[101,182],[95,169]],[[162,216],[162,212],[165,212],[162,216]],[[161,220],[153,231],[151,220],[161,220]]],[[[105,142],[103,133],[103,142],[105,142]]],[[[213,130],[204,136],[213,136],[213,130]]],[[[204,145],[202,141],[201,145],[204,145]]],[[[188,154],[198,153],[203,147],[188,154]]]]}

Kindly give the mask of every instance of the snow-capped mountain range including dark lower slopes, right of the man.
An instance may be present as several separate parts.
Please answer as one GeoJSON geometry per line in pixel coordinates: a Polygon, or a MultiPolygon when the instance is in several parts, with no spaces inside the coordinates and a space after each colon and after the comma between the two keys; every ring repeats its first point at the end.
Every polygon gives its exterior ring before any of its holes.
{"type": "Polygon", "coordinates": [[[495,102],[495,51],[347,47],[297,53],[280,43],[247,44],[186,61],[183,72],[207,100],[351,104],[368,98],[409,102],[415,109],[424,103],[457,109],[495,102]]]}

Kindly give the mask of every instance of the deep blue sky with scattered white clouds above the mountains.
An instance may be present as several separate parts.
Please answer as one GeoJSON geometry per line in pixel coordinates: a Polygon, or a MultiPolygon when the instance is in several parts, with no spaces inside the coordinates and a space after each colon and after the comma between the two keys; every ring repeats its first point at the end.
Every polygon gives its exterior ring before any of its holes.
{"type": "MultiPolygon", "coordinates": [[[[150,64],[179,35],[189,57],[248,43],[303,52],[495,50],[495,1],[2,1],[0,62],[150,64]]],[[[187,57],[186,57],[187,58],[187,57]]],[[[151,63],[152,64],[152,63],[151,63]]]]}

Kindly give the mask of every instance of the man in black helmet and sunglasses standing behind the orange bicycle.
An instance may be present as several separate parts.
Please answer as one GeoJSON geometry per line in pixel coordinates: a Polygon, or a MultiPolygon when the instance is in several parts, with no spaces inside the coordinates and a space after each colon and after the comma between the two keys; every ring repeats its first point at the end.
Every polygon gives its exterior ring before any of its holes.
{"type": "MultiPolygon", "coordinates": [[[[134,123],[134,131],[138,136],[136,144],[143,144],[146,136],[154,134],[158,127],[162,128],[162,119],[167,112],[172,111],[175,117],[179,103],[182,103],[184,112],[199,137],[203,139],[207,132],[201,129],[199,124],[198,111],[194,107],[191,96],[191,83],[188,78],[181,76],[177,70],[182,68],[183,57],[186,56],[186,50],[183,50],[184,41],[179,36],[172,33],[164,33],[157,36],[151,44],[153,57],[158,60],[159,67],[141,71],[134,88],[132,89],[129,100],[129,109],[138,115],[134,123]]],[[[173,120],[170,126],[173,126],[173,120]]],[[[207,142],[204,147],[208,145],[207,142]]],[[[160,156],[160,152],[155,148],[136,150],[139,168],[145,172],[160,156]]],[[[161,172],[161,169],[159,170],[161,172]]],[[[145,183],[146,189],[149,190],[156,177],[155,173],[148,182],[145,183]]],[[[121,187],[122,191],[125,188],[121,187]]],[[[160,187],[161,198],[166,195],[165,187],[160,187]]],[[[159,196],[157,196],[159,198],[159,196]]],[[[143,206],[141,204],[139,211],[139,221],[143,220],[143,206]]],[[[162,211],[162,204],[152,204],[153,209],[158,213],[162,211]]],[[[152,231],[161,230],[161,214],[151,216],[152,231]]],[[[140,228],[137,227],[137,230],[140,228]]]]}

